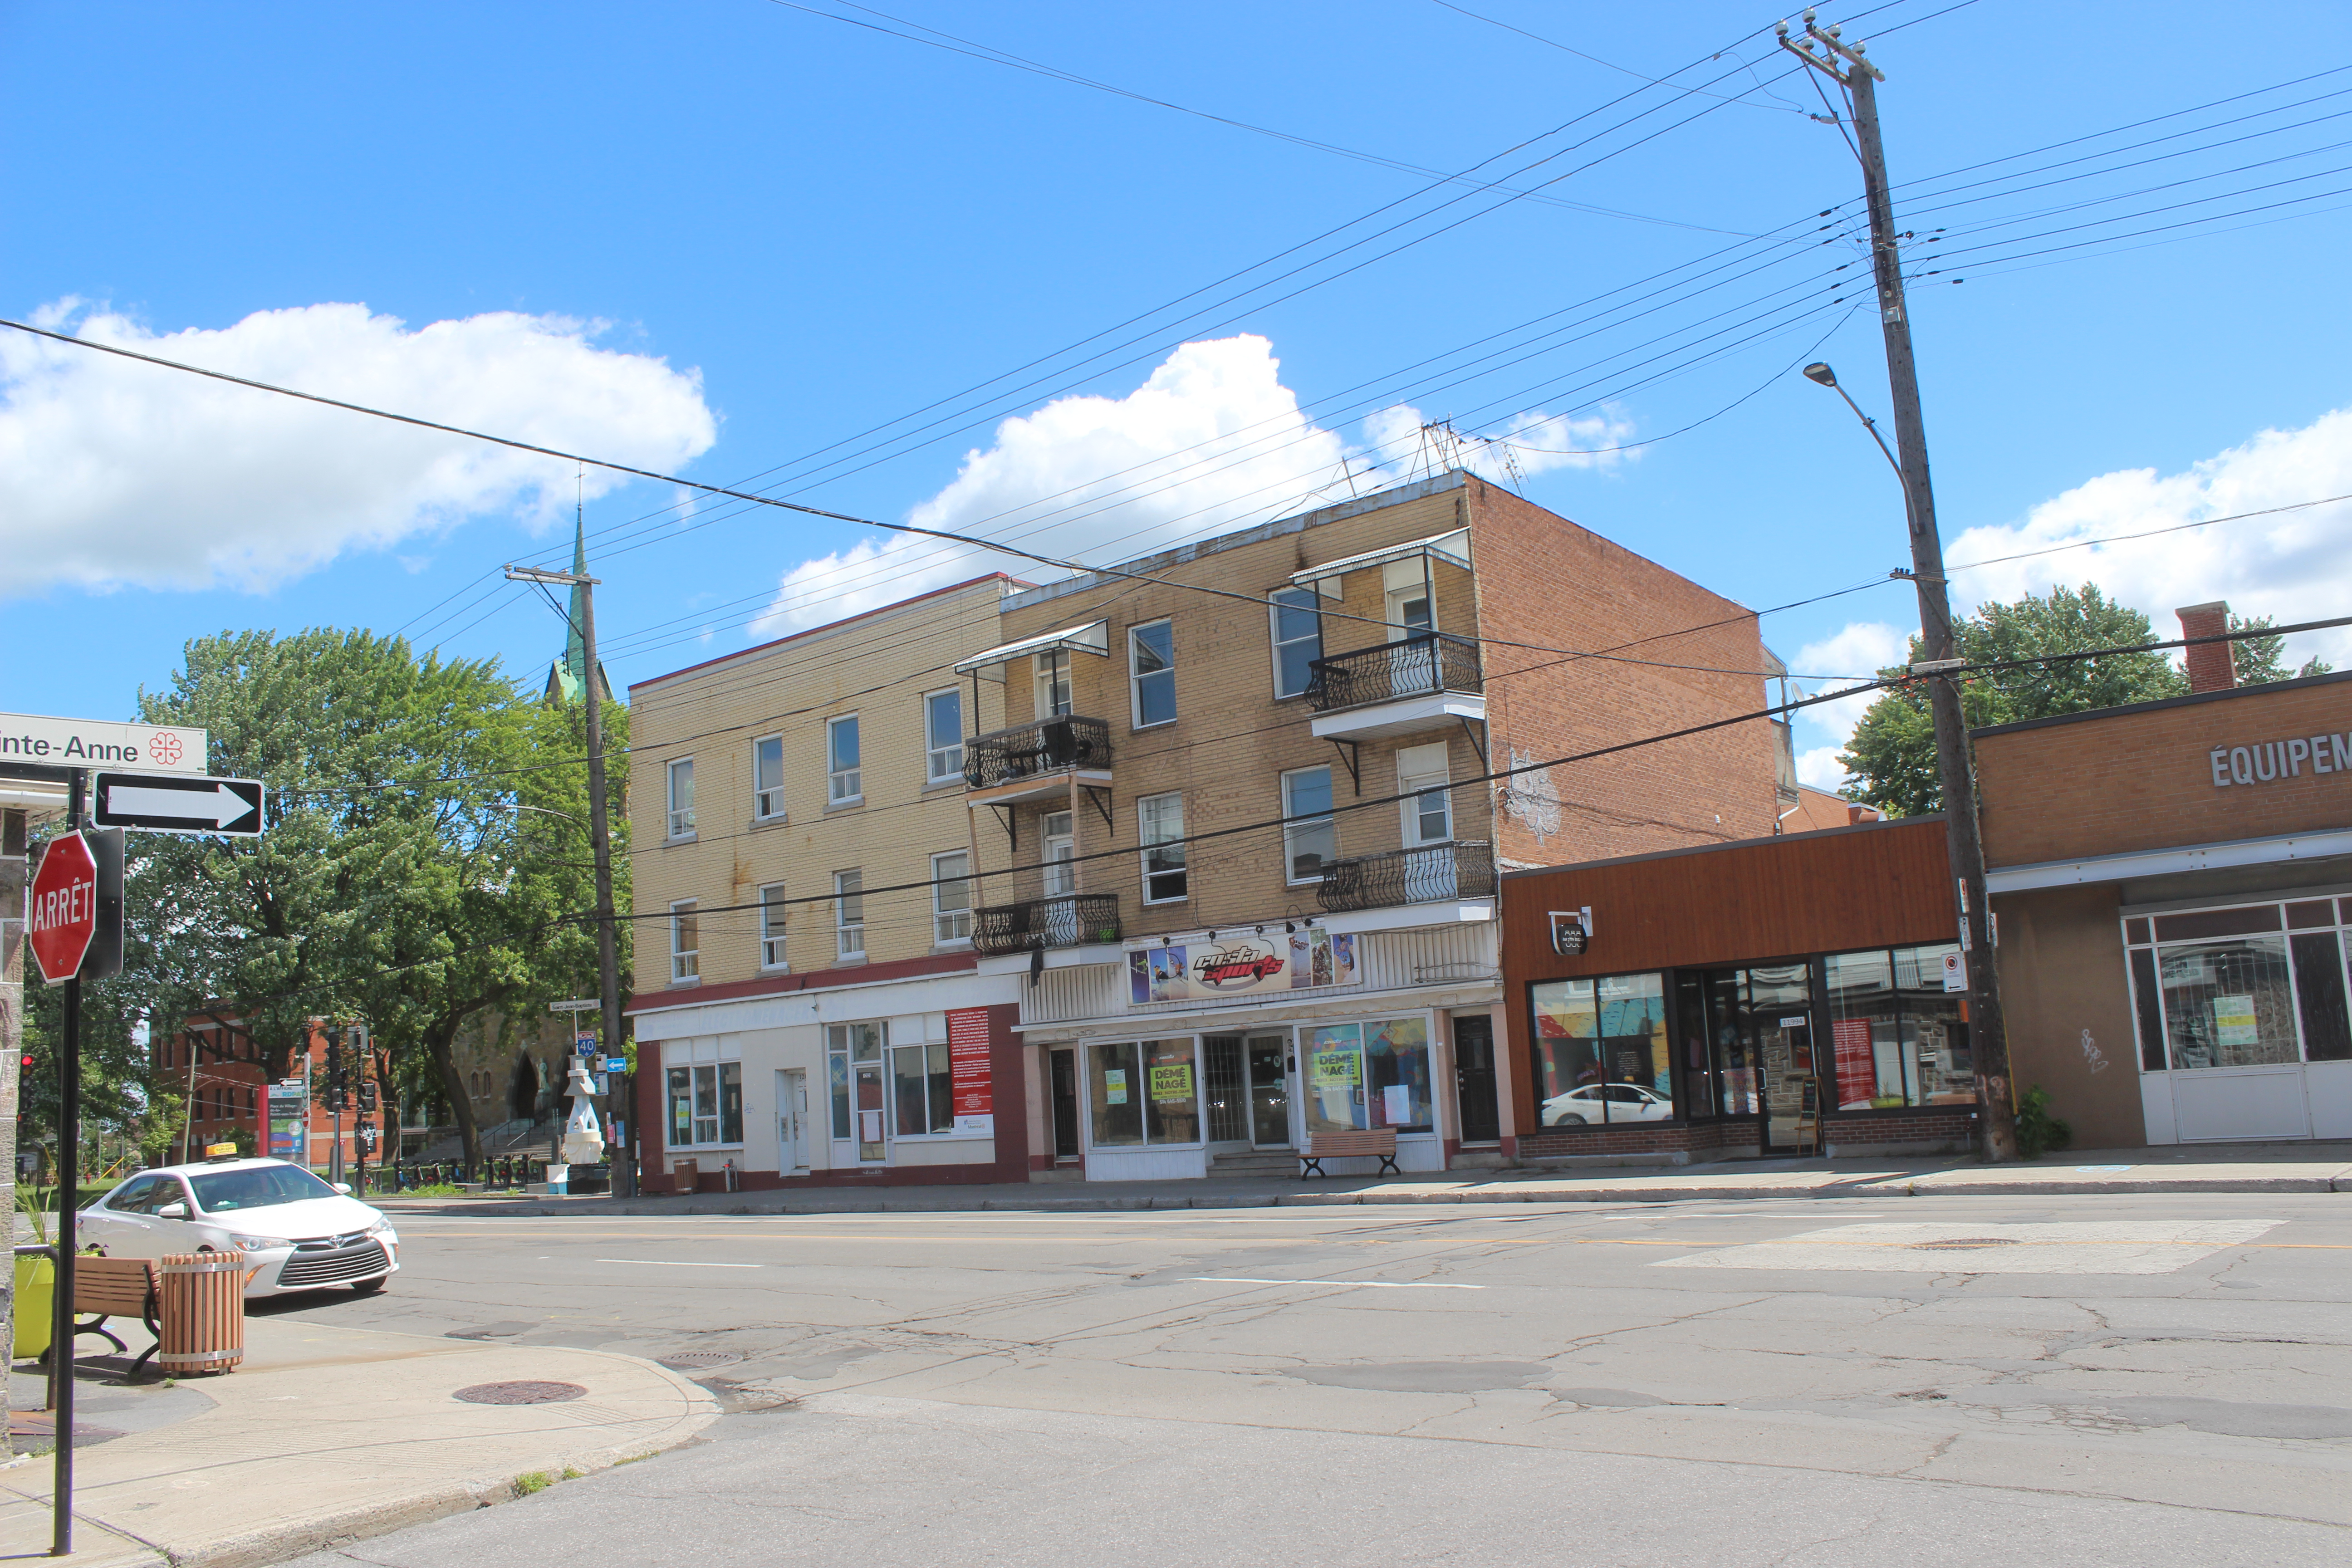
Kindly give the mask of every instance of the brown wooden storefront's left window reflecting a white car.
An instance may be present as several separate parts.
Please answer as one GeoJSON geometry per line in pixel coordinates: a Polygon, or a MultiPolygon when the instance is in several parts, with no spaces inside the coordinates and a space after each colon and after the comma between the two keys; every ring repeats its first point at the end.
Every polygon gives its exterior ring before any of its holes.
{"type": "Polygon", "coordinates": [[[1543,1126],[1668,1121],[1665,976],[1548,980],[1534,987],[1543,1126]]]}

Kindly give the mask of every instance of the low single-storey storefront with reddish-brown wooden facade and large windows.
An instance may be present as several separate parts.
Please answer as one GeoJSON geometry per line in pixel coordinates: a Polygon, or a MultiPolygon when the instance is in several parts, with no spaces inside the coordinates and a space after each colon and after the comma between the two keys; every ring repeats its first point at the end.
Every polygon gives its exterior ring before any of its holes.
{"type": "Polygon", "coordinates": [[[1940,816],[1512,872],[1508,1152],[1969,1147],[1957,924],[1940,816]],[[1552,912],[1581,910],[1559,954],[1552,912]]]}

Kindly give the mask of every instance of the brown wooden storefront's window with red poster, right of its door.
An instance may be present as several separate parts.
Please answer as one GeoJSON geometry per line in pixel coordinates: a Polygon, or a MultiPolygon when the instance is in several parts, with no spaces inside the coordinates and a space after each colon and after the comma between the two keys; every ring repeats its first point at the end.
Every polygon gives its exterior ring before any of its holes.
{"type": "Polygon", "coordinates": [[[1947,952],[1957,947],[1832,952],[1823,961],[1837,1110],[1976,1105],[1966,997],[1943,990],[1947,952]]]}

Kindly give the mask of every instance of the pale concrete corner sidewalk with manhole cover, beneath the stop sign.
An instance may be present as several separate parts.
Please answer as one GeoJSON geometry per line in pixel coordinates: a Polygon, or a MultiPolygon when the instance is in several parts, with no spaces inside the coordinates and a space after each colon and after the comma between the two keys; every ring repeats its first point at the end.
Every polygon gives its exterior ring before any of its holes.
{"type": "MultiPolygon", "coordinates": [[[[139,1347],[139,1331],[129,1335],[139,1347]]],[[[94,1340],[85,1340],[85,1347],[94,1340]]],[[[278,1563],[675,1448],[717,1401],[652,1361],[245,1319],[245,1366],[174,1387],[106,1382],[85,1359],[73,1450],[73,1563],[278,1563]],[[562,1403],[463,1403],[489,1382],[560,1382],[562,1403]]],[[[96,1366],[92,1366],[96,1361],[96,1366]]],[[[16,1378],[33,1387],[40,1378],[16,1378]]],[[[16,1403],[24,1403],[19,1396],[16,1403]]],[[[38,1422],[28,1422],[38,1425],[38,1422]]],[[[49,1549],[47,1455],[0,1469],[0,1556],[49,1549]]]]}

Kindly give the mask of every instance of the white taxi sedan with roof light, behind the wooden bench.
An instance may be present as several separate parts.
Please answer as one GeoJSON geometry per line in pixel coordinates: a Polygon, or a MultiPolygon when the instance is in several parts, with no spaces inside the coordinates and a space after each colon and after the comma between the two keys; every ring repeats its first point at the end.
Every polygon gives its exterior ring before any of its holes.
{"type": "Polygon", "coordinates": [[[141,1171],[75,1215],[73,1232],[108,1258],[242,1253],[254,1267],[247,1295],[367,1295],[400,1269],[400,1237],[381,1211],[282,1159],[141,1171]]]}

